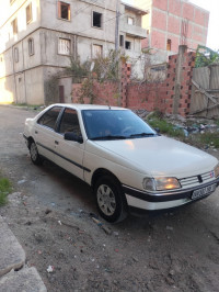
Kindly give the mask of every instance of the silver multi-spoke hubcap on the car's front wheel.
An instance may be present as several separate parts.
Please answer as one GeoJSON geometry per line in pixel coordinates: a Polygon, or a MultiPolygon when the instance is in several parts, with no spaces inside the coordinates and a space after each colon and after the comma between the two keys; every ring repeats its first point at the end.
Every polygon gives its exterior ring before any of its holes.
{"type": "Polygon", "coordinates": [[[116,200],[112,189],[106,184],[101,184],[97,189],[97,203],[101,211],[111,216],[116,211],[116,200]]]}

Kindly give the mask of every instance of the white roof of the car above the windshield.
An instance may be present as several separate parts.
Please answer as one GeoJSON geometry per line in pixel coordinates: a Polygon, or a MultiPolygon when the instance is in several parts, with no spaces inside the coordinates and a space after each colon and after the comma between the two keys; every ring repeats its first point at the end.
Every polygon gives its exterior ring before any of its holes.
{"type": "Polygon", "coordinates": [[[111,106],[111,105],[99,105],[99,104],[79,104],[79,103],[55,103],[50,106],[64,106],[64,108],[72,108],[79,111],[82,110],[128,110],[120,106],[111,106]]]}

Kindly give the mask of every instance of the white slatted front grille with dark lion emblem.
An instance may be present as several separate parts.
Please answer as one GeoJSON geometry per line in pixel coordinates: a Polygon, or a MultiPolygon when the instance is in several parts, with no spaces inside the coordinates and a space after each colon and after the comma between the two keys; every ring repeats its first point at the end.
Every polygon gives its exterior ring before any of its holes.
{"type": "Polygon", "coordinates": [[[206,183],[215,178],[214,171],[205,172],[198,176],[181,179],[182,188],[189,188],[194,186],[199,186],[200,183],[206,183]]]}

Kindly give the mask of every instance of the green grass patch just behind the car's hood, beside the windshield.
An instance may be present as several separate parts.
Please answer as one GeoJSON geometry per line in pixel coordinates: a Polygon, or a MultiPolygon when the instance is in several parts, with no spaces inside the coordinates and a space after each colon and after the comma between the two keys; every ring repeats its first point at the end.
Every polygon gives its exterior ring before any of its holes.
{"type": "Polygon", "coordinates": [[[182,128],[177,128],[165,120],[159,117],[152,117],[147,121],[153,128],[159,128],[161,134],[166,134],[171,137],[183,137],[184,132],[182,128]]]}

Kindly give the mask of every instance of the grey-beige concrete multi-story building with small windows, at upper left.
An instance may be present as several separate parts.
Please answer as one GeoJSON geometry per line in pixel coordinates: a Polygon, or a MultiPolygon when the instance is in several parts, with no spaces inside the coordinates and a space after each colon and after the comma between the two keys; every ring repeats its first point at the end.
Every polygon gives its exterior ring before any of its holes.
{"type": "MultiPolygon", "coordinates": [[[[69,66],[115,48],[116,0],[0,0],[0,102],[48,103],[47,80],[69,66]]],[[[120,46],[140,54],[141,15],[119,2],[120,46]],[[134,21],[130,22],[130,19],[134,21]],[[130,29],[130,31],[129,31],[130,29]]],[[[59,98],[70,102],[71,78],[59,79],[59,98]]]]}

